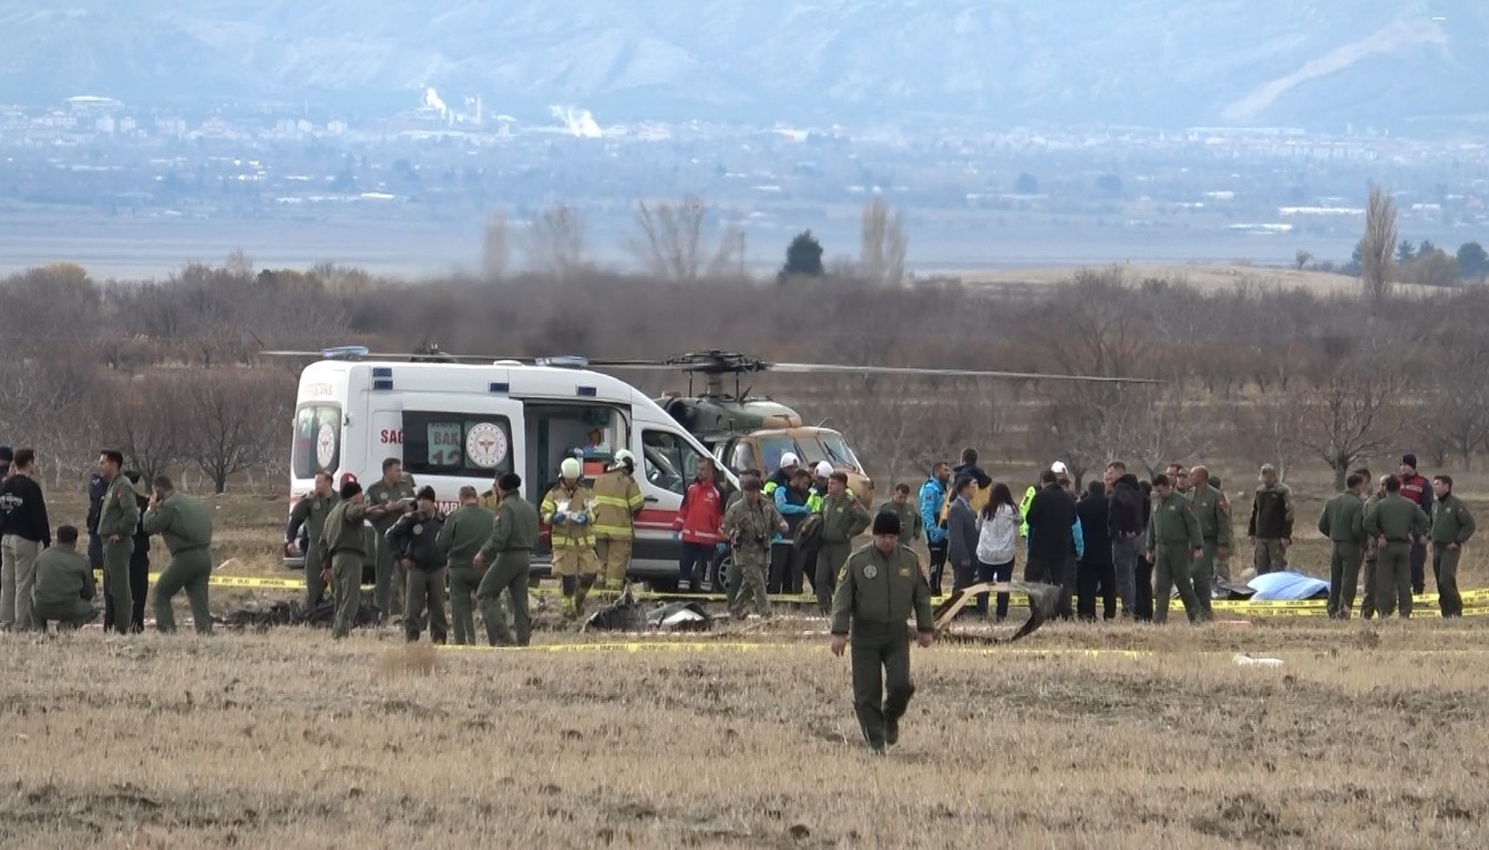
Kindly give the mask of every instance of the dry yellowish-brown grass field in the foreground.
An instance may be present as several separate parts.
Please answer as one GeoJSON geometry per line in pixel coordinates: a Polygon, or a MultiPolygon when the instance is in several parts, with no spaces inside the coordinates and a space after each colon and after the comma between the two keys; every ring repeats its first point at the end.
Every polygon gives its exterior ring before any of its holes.
{"type": "Polygon", "coordinates": [[[1069,625],[917,651],[884,759],[820,639],[6,636],[0,846],[1483,847],[1486,634],[1069,625]],[[1080,651],[1109,646],[1144,654],[1080,651]]]}

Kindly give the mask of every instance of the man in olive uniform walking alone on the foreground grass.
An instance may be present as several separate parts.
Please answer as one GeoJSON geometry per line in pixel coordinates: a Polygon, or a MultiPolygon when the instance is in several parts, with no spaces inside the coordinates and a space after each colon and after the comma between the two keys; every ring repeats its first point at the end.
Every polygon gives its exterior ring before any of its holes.
{"type": "Polygon", "coordinates": [[[916,692],[905,619],[914,613],[922,648],[935,639],[931,585],[899,531],[893,514],[874,517],[873,545],[849,557],[832,594],[832,655],[841,658],[852,639],[853,710],[876,755],[899,743],[899,719],[916,692]]]}

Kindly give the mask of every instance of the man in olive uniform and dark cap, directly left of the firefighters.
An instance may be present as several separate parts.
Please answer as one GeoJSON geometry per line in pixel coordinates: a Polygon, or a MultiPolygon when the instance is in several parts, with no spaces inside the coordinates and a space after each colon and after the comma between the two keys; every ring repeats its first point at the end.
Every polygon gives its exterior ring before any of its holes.
{"type": "Polygon", "coordinates": [[[485,570],[475,597],[481,604],[487,640],[491,646],[511,645],[512,631],[502,615],[502,591],[506,591],[512,604],[512,625],[517,627],[515,643],[527,646],[532,640],[527,576],[533,567],[533,548],[538,546],[538,511],[523,499],[523,478],[515,472],[503,475],[499,487],[502,506],[496,512],[491,536],[475,557],[475,569],[485,570]]]}

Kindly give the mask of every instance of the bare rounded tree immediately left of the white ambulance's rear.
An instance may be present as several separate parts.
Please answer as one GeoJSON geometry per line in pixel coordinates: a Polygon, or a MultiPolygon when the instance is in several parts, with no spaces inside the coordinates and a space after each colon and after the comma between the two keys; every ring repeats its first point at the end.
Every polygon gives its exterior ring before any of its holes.
{"type": "Polygon", "coordinates": [[[292,384],[278,372],[213,369],[188,381],[177,399],[179,415],[191,427],[185,456],[211,479],[216,493],[226,493],[228,479],[264,461],[284,436],[289,417],[284,397],[292,384]]]}

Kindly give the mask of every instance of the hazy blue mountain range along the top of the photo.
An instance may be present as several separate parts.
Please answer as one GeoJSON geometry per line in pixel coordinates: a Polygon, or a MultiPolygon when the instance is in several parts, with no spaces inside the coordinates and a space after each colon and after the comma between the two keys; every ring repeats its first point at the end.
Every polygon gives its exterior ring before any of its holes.
{"type": "Polygon", "coordinates": [[[0,101],[1489,128],[1485,0],[0,0],[0,101]]]}

